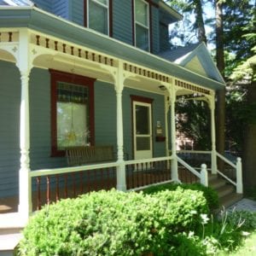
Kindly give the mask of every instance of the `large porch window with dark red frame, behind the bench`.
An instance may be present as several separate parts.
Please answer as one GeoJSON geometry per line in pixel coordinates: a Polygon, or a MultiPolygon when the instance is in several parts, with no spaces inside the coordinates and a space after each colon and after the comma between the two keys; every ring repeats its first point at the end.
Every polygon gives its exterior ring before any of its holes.
{"type": "Polygon", "coordinates": [[[86,146],[94,140],[94,79],[75,74],[51,73],[52,155],[65,148],[86,146]]]}

